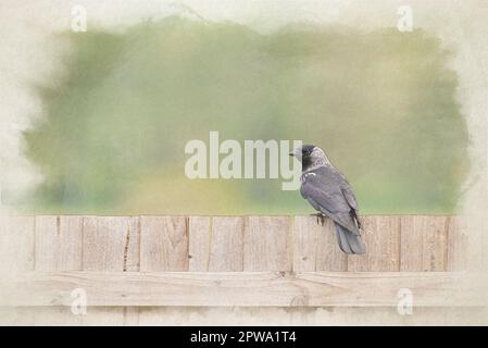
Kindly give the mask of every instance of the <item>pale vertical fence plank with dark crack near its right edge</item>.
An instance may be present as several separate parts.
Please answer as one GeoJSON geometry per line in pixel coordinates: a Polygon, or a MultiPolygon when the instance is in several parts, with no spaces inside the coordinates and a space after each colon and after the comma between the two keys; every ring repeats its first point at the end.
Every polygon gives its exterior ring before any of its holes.
{"type": "Polygon", "coordinates": [[[85,271],[137,271],[139,217],[84,216],[83,269],[85,271]]]}

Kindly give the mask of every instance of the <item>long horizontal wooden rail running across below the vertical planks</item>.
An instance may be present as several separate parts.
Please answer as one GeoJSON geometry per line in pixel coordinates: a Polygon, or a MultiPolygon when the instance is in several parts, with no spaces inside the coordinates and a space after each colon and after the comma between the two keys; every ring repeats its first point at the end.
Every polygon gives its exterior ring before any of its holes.
{"type": "Polygon", "coordinates": [[[486,274],[449,272],[63,272],[0,282],[0,306],[71,306],[73,288],[88,306],[486,306],[486,274]]]}

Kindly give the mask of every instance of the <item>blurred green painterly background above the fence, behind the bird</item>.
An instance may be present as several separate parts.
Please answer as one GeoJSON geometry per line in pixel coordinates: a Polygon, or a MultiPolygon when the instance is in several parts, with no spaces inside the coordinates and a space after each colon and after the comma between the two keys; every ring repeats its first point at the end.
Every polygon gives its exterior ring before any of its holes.
{"type": "Polygon", "coordinates": [[[25,133],[45,176],[26,210],[99,214],[309,213],[281,179],[185,176],[187,141],[301,139],[326,149],[362,213],[452,213],[468,137],[450,53],[422,30],[293,24],[258,34],[167,17],[63,33],[60,74],[25,133]]]}

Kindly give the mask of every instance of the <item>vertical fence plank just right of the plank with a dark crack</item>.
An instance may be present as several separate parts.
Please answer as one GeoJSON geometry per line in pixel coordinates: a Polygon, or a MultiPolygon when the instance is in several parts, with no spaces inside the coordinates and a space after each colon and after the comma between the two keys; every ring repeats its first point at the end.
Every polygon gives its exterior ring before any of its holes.
{"type": "Polygon", "coordinates": [[[188,270],[185,216],[141,216],[140,233],[141,272],[188,270]]]}

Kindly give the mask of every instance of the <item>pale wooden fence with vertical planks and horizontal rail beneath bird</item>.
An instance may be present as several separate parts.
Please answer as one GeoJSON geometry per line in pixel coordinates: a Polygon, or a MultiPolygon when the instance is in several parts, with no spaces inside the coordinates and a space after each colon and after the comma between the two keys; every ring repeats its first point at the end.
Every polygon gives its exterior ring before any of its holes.
{"type": "Polygon", "coordinates": [[[364,216],[343,254],[313,216],[3,216],[0,306],[484,306],[456,216],[364,216]]]}

